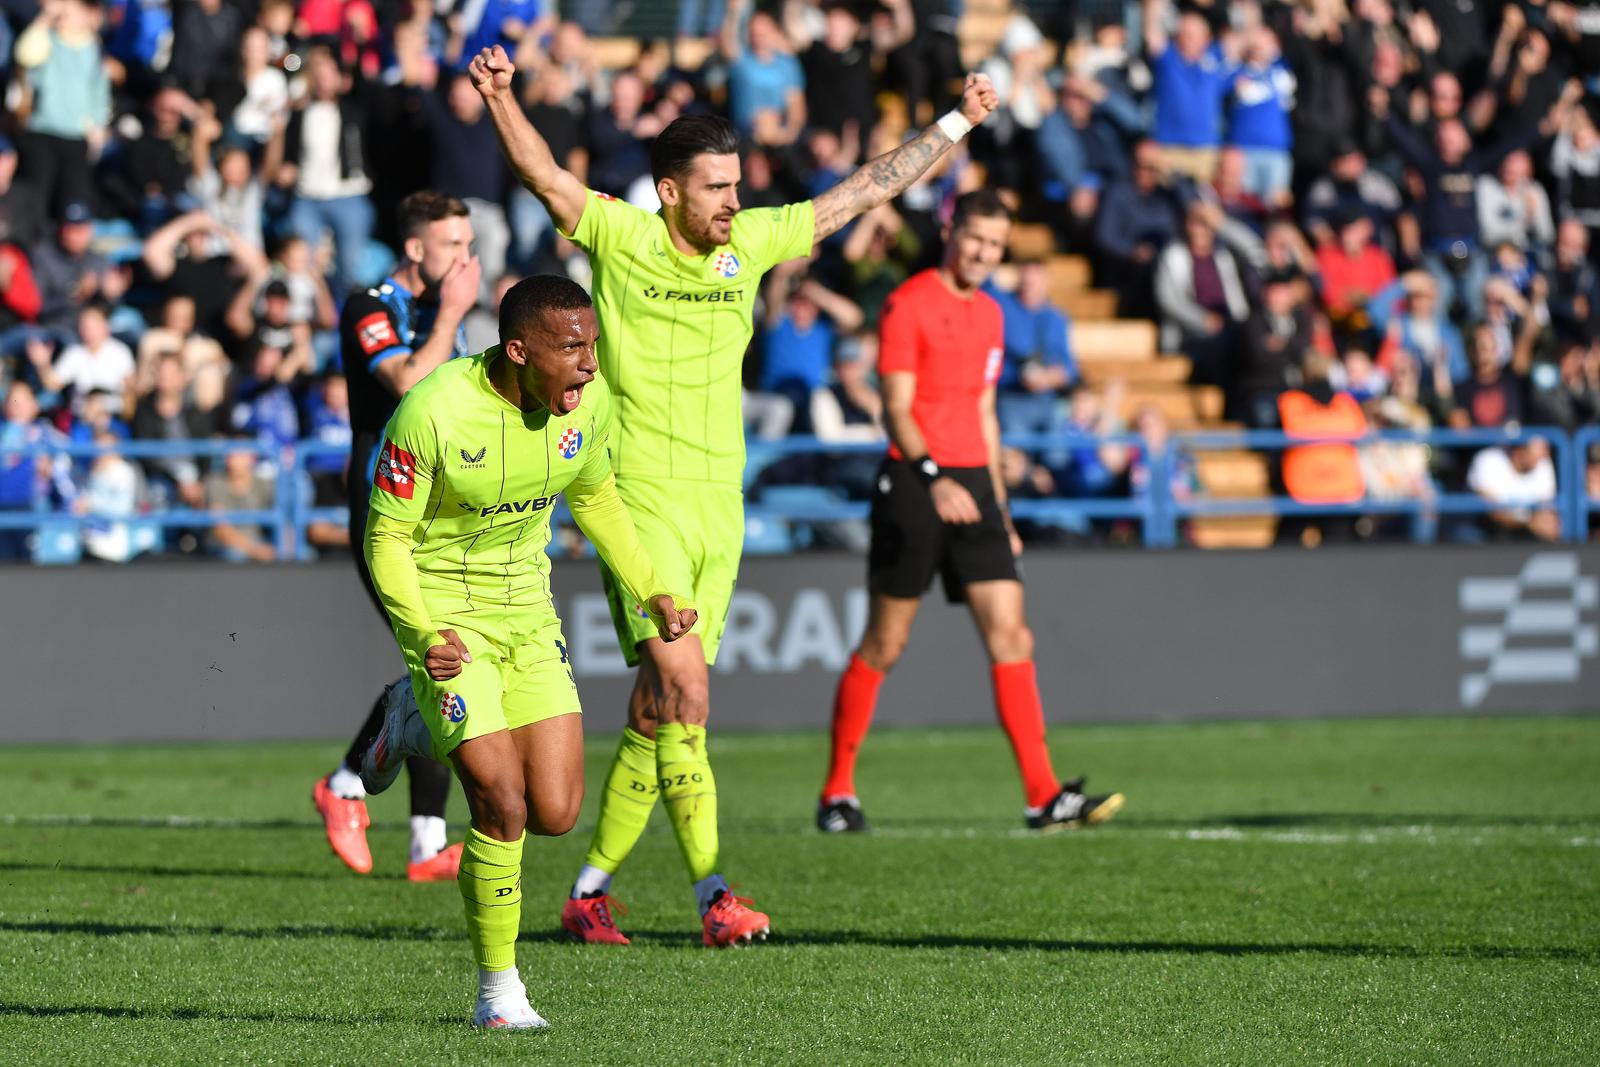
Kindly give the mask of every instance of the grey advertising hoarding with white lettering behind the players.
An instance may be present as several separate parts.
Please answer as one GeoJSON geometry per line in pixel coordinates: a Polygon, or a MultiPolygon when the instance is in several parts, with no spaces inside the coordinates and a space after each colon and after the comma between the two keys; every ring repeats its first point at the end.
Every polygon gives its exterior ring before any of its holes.
{"type": "MultiPolygon", "coordinates": [[[[1600,549],[1032,553],[1051,721],[1600,709],[1600,549]]],[[[714,721],[827,723],[866,619],[853,557],[747,560],[714,721]]],[[[629,673],[592,563],[555,589],[598,729],[629,673]]],[[[0,742],[344,737],[398,672],[347,563],[0,569],[0,742]]],[[[878,721],[992,720],[960,608],[931,595],[878,721]]]]}

